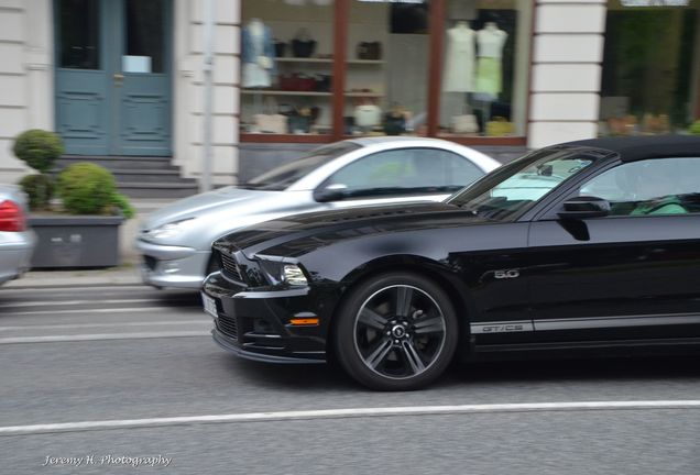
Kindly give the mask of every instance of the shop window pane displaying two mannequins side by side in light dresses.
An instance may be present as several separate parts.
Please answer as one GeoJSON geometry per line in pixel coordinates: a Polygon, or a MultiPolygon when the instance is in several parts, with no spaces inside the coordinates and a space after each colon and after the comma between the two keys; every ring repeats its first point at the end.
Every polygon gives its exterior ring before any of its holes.
{"type": "Polygon", "coordinates": [[[441,135],[525,135],[531,24],[529,1],[447,1],[441,135]]]}

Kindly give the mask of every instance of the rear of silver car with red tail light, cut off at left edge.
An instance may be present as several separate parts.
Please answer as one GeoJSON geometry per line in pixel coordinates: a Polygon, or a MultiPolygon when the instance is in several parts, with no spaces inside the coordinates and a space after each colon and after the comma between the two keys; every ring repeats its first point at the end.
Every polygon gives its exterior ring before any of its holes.
{"type": "Polygon", "coordinates": [[[24,192],[0,185],[0,284],[21,276],[30,267],[36,236],[26,227],[24,192]]]}

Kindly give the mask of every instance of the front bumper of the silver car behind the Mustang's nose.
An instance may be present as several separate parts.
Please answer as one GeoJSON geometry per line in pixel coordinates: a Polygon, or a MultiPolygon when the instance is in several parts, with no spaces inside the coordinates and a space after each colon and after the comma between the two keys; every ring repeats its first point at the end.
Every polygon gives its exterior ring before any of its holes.
{"type": "Polygon", "coordinates": [[[142,256],[141,277],[154,287],[201,288],[211,251],[168,246],[136,240],[142,256]]]}

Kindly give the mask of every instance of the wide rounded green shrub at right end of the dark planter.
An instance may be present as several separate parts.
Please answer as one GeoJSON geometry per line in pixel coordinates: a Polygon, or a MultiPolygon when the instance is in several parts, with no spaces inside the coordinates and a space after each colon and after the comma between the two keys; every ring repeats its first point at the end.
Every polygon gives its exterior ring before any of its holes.
{"type": "Polygon", "coordinates": [[[107,168],[83,162],[61,172],[56,191],[72,214],[105,214],[112,205],[117,185],[107,168]]]}

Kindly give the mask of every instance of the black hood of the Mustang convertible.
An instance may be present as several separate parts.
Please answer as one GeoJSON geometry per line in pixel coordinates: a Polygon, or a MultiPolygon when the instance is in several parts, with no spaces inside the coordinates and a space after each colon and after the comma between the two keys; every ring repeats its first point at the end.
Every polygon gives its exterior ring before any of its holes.
{"type": "Polygon", "coordinates": [[[342,240],[369,234],[488,222],[453,205],[411,203],[354,208],[292,216],[266,221],[221,238],[216,245],[248,257],[271,254],[293,257],[342,240]]]}

